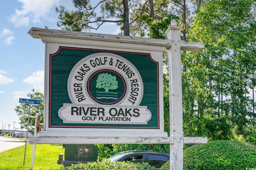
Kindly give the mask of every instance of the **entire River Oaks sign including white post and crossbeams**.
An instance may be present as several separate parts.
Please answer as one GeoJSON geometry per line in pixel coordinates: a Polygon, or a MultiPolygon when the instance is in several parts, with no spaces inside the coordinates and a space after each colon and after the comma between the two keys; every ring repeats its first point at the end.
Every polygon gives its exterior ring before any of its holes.
{"type": "Polygon", "coordinates": [[[170,170],[183,169],[181,50],[203,43],[180,39],[172,20],[167,39],[31,28],[46,46],[44,130],[30,144],[168,143],[170,170]],[[163,63],[168,51],[170,135],[164,132],[163,63]]]}

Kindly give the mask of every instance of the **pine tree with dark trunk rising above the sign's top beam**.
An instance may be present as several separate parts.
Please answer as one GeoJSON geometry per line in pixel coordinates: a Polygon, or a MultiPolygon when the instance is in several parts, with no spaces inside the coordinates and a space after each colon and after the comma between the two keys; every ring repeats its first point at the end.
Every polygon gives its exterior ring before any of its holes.
{"type": "Polygon", "coordinates": [[[97,30],[106,22],[116,23],[124,35],[144,37],[150,29],[144,18],[162,20],[171,14],[169,0],[99,0],[94,6],[90,0],[73,0],[76,10],[56,7],[58,27],[68,31],[97,30]],[[96,13],[100,9],[100,12],[96,13]],[[100,14],[99,14],[100,13],[100,14]]]}

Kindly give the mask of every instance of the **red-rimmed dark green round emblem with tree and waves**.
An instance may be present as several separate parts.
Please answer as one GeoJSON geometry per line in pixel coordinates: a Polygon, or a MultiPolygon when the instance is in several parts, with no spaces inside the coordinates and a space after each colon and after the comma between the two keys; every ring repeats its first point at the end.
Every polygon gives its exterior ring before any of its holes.
{"type": "Polygon", "coordinates": [[[99,104],[116,104],[125,96],[126,82],[114,70],[98,70],[88,78],[87,91],[99,104]]]}

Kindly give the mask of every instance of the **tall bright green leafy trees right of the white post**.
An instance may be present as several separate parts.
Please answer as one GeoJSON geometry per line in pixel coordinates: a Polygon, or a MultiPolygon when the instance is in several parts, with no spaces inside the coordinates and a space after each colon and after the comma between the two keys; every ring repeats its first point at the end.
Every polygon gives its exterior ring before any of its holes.
{"type": "Polygon", "coordinates": [[[225,133],[236,128],[236,135],[244,137],[254,131],[255,102],[248,97],[256,71],[254,7],[251,0],[211,0],[196,10],[188,40],[204,42],[206,48],[184,60],[189,71],[183,74],[183,105],[190,135],[224,139],[210,132],[214,124],[225,125],[225,133]]]}

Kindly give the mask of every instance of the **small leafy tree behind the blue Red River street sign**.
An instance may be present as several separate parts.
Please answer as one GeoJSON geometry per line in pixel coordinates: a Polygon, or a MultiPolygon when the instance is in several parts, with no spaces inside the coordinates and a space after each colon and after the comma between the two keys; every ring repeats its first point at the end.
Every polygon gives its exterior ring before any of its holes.
{"type": "Polygon", "coordinates": [[[32,90],[32,93],[29,93],[28,98],[34,99],[34,100],[40,100],[40,105],[31,105],[30,107],[30,119],[28,124],[28,111],[29,111],[29,105],[21,103],[19,106],[16,106],[14,109],[20,119],[20,125],[22,129],[26,129],[28,127],[28,131],[30,133],[34,133],[34,127],[35,127],[35,116],[36,113],[40,115],[40,129],[42,130],[43,127],[43,113],[44,113],[44,95],[40,92],[36,92],[34,89],[32,90]],[[29,125],[29,126],[28,126],[29,125]]]}

